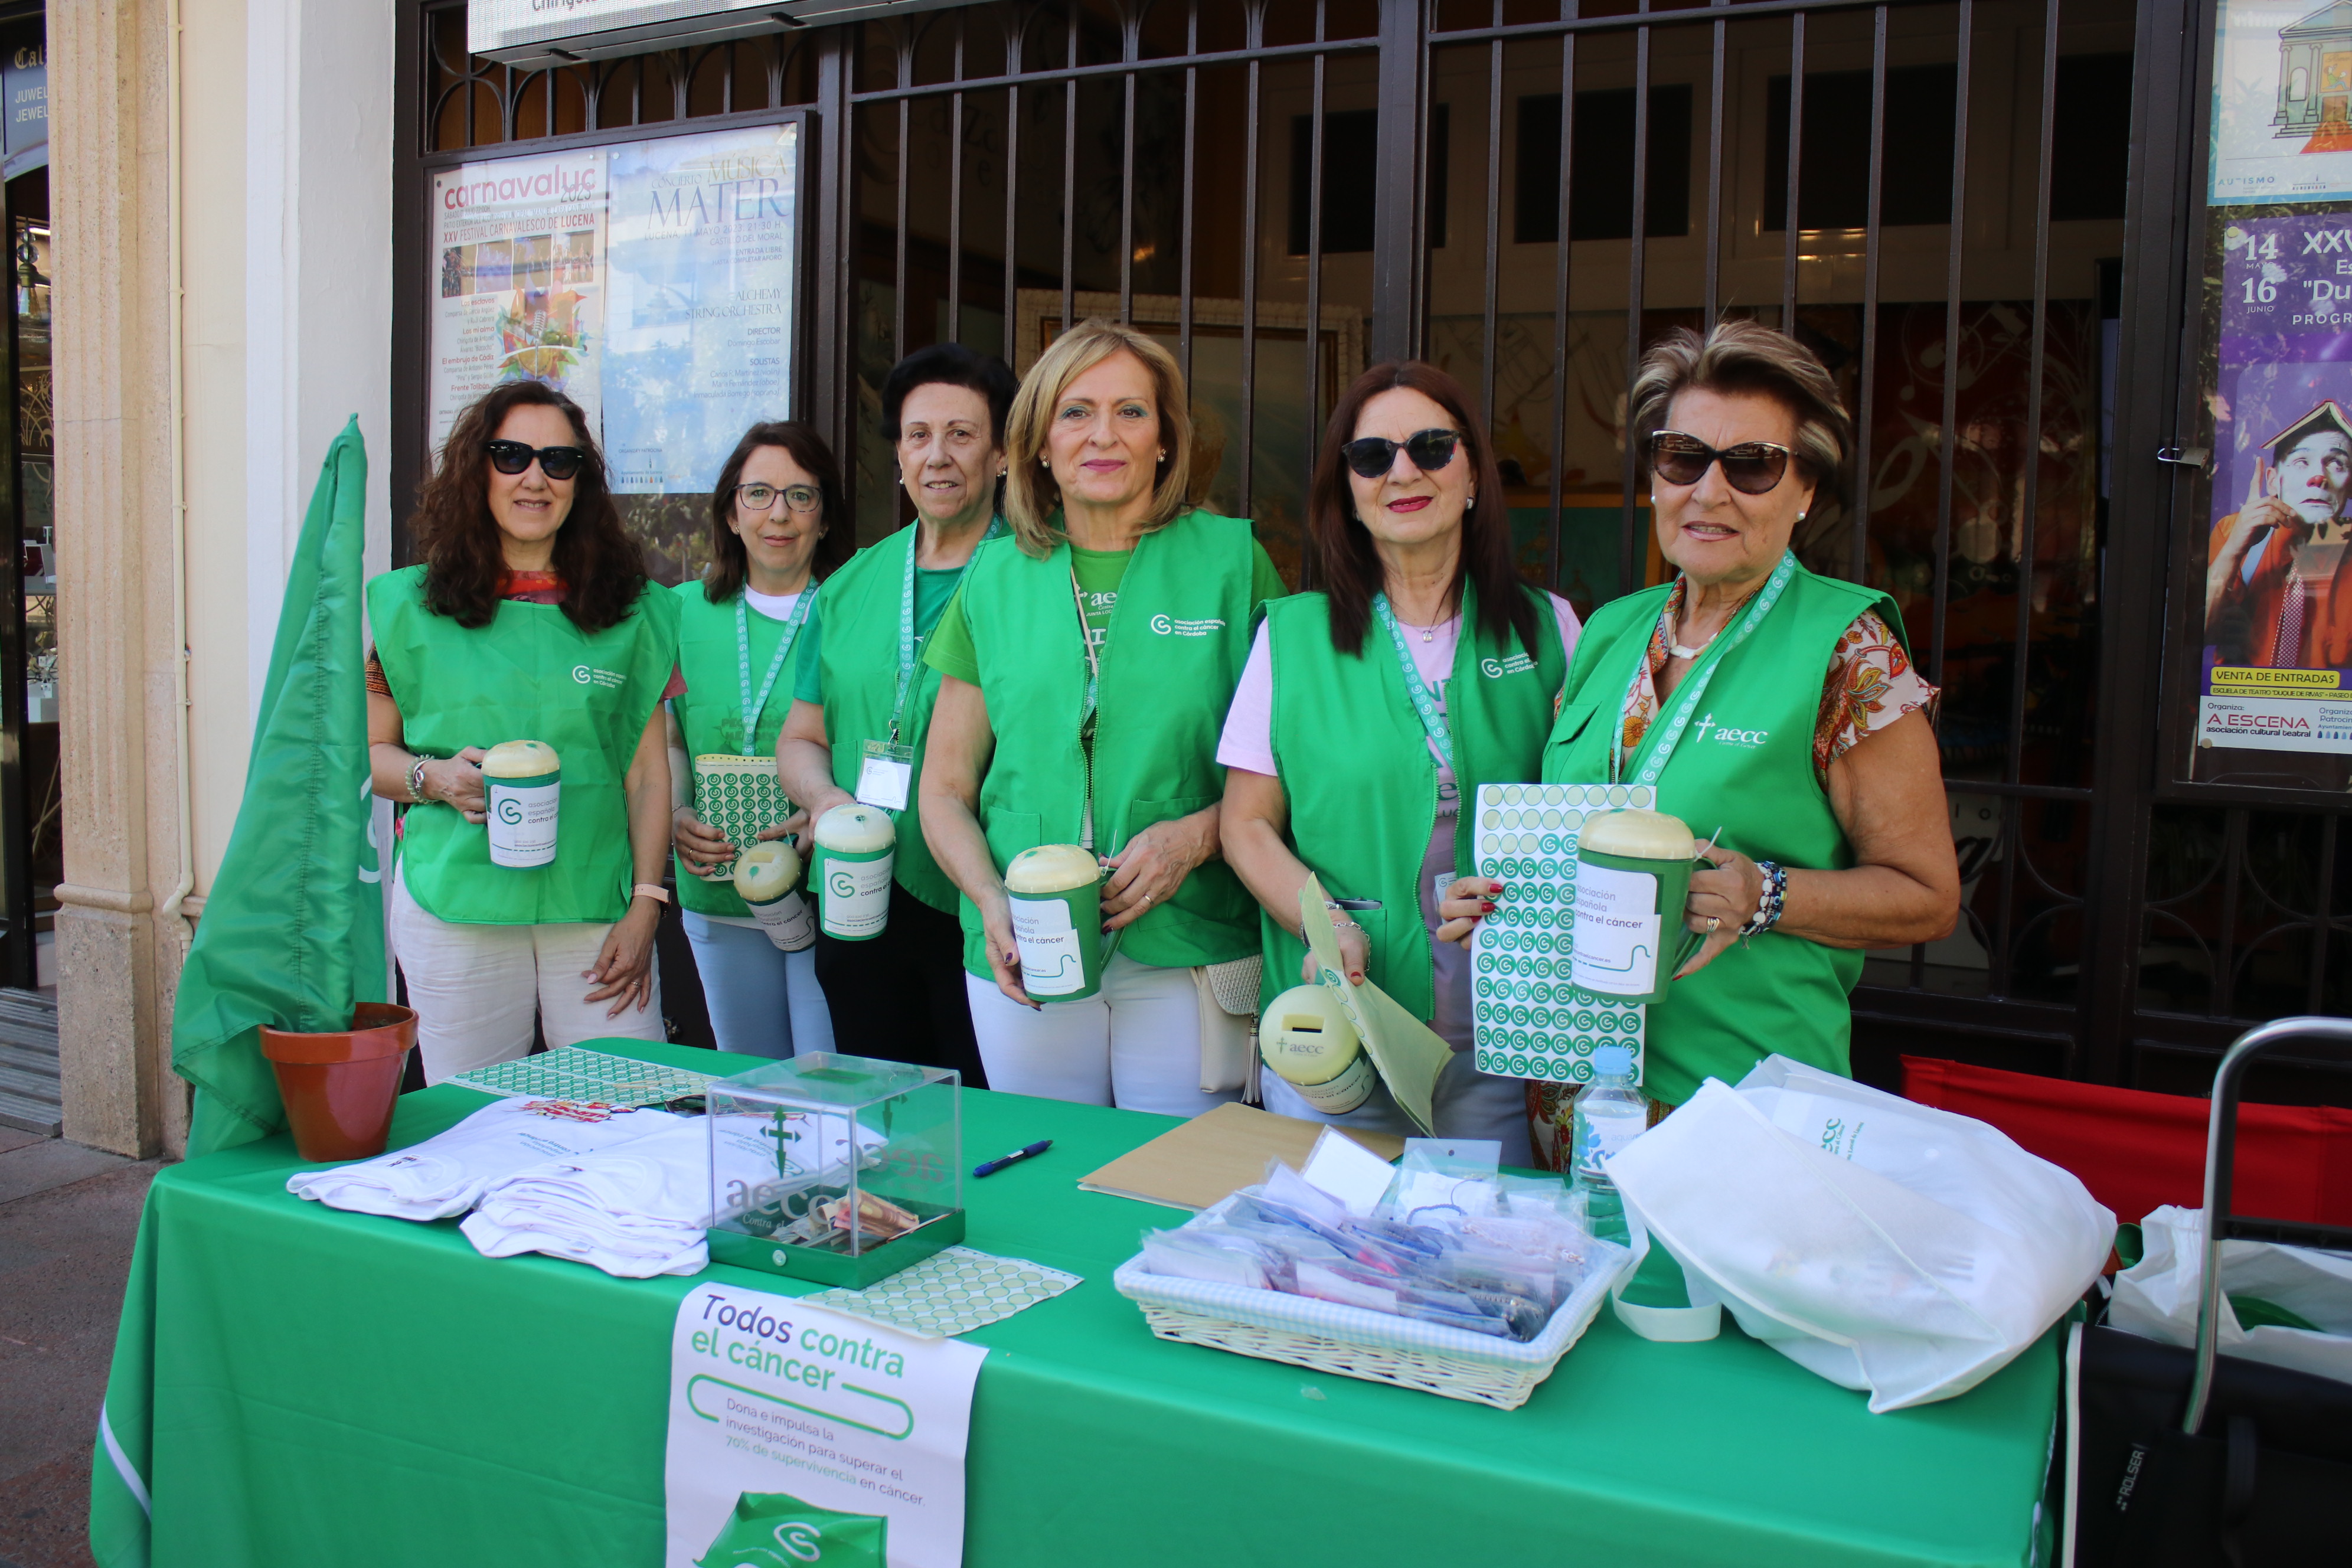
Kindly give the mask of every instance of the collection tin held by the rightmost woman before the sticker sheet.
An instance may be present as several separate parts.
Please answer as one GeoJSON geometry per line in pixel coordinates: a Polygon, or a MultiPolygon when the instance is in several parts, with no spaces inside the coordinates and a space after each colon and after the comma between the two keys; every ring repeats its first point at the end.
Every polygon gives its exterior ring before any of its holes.
{"type": "Polygon", "coordinates": [[[1700,936],[1682,929],[1698,842],[1679,816],[1602,811],[1576,839],[1569,980],[1618,1001],[1665,1001],[1700,936]],[[1670,959],[1665,954],[1672,954],[1670,959]]]}

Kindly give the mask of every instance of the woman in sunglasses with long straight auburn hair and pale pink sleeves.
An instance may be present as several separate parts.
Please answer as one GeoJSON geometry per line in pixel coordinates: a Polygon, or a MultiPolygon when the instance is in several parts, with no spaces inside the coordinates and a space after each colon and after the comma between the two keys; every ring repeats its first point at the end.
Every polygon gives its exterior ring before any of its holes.
{"type": "MultiPolygon", "coordinates": [[[[1268,607],[1216,750],[1225,858],[1258,896],[1263,999],[1315,978],[1298,933],[1315,872],[1348,900],[1348,980],[1454,1046],[1435,1133],[1498,1138],[1526,1164],[1524,1088],[1470,1051],[1468,938],[1494,905],[1456,820],[1482,780],[1536,778],[1576,611],[1519,583],[1494,449],[1461,383],[1418,360],[1371,367],[1331,409],[1308,548],[1322,590],[1268,607]]],[[[1258,1081],[1284,1117],[1418,1133],[1385,1086],[1324,1114],[1258,1081]]]]}

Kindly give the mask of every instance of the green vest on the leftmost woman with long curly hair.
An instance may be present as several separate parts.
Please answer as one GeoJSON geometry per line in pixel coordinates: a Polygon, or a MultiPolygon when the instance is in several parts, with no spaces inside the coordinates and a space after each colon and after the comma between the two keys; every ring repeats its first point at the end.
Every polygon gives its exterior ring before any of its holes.
{"type": "Polygon", "coordinates": [[[677,599],[647,583],[628,618],[593,637],[555,604],[513,599],[468,630],[426,609],[423,571],[402,567],[367,585],[367,623],[409,750],[454,757],[546,741],[564,783],[555,860],[534,867],[492,865],[489,830],[454,806],[412,806],[400,837],[409,896],[475,926],[621,919],[635,884],[623,778],[670,684],[677,599]]]}

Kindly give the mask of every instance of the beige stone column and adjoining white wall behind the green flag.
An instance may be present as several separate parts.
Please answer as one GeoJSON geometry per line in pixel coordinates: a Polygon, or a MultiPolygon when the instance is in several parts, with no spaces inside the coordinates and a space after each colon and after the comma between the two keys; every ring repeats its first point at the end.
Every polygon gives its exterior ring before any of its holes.
{"type": "Polygon", "coordinates": [[[388,564],[390,87],[393,0],[49,7],[59,1046],[80,1143],[186,1143],[179,896],[198,912],[228,849],[280,585],[350,414],[369,567],[388,564]]]}

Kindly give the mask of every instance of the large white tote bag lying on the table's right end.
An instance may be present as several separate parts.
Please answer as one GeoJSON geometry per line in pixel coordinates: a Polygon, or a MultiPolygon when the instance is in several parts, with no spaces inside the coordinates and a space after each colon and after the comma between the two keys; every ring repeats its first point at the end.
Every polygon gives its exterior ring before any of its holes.
{"type": "Polygon", "coordinates": [[[2114,1215],[1999,1131],[1771,1056],[1609,1161],[1625,1215],[1682,1265],[1691,1309],[1646,1338],[1740,1328],[1870,1408],[1973,1389],[2072,1307],[2114,1215]],[[1696,1324],[1696,1328],[1693,1328],[1696,1324]]]}

